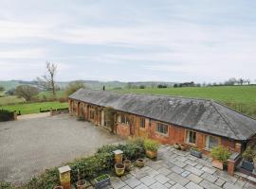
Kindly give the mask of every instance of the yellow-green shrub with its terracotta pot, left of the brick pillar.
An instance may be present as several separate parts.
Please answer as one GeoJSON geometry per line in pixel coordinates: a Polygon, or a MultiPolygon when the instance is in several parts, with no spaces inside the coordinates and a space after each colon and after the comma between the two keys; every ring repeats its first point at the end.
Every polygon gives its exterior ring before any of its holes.
{"type": "Polygon", "coordinates": [[[211,149],[210,153],[212,156],[212,165],[223,170],[224,165],[227,165],[229,156],[231,155],[229,149],[224,146],[216,146],[211,149]]]}

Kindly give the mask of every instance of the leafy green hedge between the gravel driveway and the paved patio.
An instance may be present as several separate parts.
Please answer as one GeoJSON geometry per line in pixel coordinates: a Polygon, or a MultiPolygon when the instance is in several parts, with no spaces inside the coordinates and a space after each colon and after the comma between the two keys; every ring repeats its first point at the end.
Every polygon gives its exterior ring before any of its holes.
{"type": "MultiPolygon", "coordinates": [[[[92,180],[101,174],[110,172],[114,167],[113,151],[116,149],[121,149],[124,154],[124,159],[129,159],[131,161],[135,161],[137,158],[143,158],[145,156],[145,149],[141,140],[129,141],[125,145],[102,146],[93,156],[77,159],[70,163],[64,163],[64,165],[67,164],[71,168],[71,182],[74,183],[78,180],[78,169],[80,178],[85,180],[92,180]]],[[[6,187],[3,187],[5,189],[14,188],[9,183],[1,183],[6,184],[6,187]]],[[[59,171],[57,167],[54,167],[46,169],[43,174],[32,178],[27,184],[16,189],[50,189],[58,184],[60,184],[59,171]]]]}

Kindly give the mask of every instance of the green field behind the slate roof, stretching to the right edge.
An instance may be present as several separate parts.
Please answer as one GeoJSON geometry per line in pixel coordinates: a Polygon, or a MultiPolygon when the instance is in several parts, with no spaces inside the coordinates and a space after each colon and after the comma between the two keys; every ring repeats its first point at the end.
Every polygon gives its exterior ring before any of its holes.
{"type": "Polygon", "coordinates": [[[119,93],[161,94],[195,98],[213,99],[230,108],[256,117],[256,86],[183,87],[122,89],[119,93]]]}

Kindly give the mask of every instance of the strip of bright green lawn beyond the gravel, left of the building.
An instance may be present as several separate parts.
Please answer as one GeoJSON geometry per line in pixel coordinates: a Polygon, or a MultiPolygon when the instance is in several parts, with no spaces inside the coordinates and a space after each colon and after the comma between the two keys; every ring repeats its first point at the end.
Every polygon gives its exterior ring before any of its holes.
{"type": "Polygon", "coordinates": [[[41,110],[52,109],[63,109],[67,108],[68,103],[60,102],[40,102],[40,103],[31,103],[31,104],[15,104],[15,105],[6,105],[0,106],[0,109],[21,112],[22,114],[37,113],[41,110]]]}

